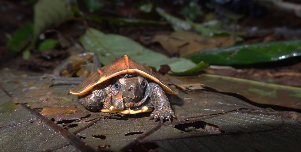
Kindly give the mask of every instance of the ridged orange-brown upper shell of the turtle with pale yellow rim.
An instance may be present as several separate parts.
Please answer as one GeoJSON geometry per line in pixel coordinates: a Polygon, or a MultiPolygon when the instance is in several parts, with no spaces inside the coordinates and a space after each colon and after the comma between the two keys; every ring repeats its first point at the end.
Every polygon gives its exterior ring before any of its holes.
{"type": "Polygon", "coordinates": [[[160,79],[151,68],[134,61],[127,55],[122,56],[118,61],[98,68],[97,71],[89,75],[87,79],[71,88],[70,93],[73,95],[85,95],[92,90],[95,85],[123,74],[139,74],[160,84],[165,93],[177,94],[177,91],[160,79]]]}

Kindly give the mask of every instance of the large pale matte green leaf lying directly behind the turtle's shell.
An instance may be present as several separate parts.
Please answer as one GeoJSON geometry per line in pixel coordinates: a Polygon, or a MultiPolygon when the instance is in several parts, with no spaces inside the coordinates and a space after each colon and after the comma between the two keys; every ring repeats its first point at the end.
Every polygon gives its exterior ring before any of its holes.
{"type": "Polygon", "coordinates": [[[195,63],[185,58],[169,58],[161,53],[151,51],[125,36],[104,34],[92,28],[87,30],[80,41],[86,50],[96,52],[100,62],[104,65],[107,65],[116,57],[128,55],[141,64],[153,66],[157,69],[160,69],[160,65],[168,64],[173,72],[184,72],[196,67],[195,63]]]}

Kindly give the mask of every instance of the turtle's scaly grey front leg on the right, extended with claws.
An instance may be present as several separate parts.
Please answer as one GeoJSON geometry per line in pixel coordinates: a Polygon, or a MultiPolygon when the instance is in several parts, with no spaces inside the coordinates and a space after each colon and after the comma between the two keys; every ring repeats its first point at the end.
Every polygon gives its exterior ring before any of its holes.
{"type": "Polygon", "coordinates": [[[159,84],[149,83],[151,88],[150,104],[152,104],[155,110],[150,114],[149,119],[154,119],[154,122],[160,118],[163,123],[164,119],[168,119],[171,122],[171,116],[176,117],[173,112],[169,100],[159,84]]]}

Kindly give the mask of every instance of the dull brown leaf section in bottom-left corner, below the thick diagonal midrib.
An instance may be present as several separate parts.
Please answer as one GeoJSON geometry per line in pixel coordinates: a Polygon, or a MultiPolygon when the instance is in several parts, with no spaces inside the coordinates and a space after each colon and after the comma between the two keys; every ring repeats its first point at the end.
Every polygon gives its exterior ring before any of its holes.
{"type": "Polygon", "coordinates": [[[22,107],[13,114],[0,114],[0,119],[0,146],[5,151],[42,151],[68,141],[59,131],[22,107]]]}

